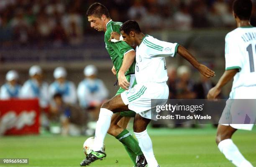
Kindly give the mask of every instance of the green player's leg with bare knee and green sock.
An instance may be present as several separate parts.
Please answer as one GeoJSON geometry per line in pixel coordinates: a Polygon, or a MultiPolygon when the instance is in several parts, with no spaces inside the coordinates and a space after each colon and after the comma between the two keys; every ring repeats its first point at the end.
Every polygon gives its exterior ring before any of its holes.
{"type": "Polygon", "coordinates": [[[126,129],[130,119],[130,117],[120,116],[119,113],[113,114],[108,134],[114,136],[123,144],[133,164],[136,165],[136,157],[143,153],[138,145],[138,141],[134,139],[131,133],[126,129]]]}

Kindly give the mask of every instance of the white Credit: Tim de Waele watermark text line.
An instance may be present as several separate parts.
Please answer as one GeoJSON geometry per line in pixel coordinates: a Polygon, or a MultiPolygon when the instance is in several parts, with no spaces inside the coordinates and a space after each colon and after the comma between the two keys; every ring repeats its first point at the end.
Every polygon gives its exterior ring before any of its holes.
{"type": "Polygon", "coordinates": [[[212,119],[212,116],[209,115],[187,115],[187,116],[182,116],[179,114],[176,115],[165,115],[165,116],[161,116],[161,115],[156,115],[156,119],[179,119],[179,120],[185,120],[185,119],[198,119],[198,120],[206,120],[206,119],[212,119]]]}

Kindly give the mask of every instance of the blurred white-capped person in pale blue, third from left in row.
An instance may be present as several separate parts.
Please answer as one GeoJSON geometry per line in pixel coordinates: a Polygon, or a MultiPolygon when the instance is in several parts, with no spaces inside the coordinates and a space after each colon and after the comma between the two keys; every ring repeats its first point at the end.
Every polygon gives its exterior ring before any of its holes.
{"type": "Polygon", "coordinates": [[[72,81],[67,81],[67,71],[64,67],[57,67],[54,70],[54,83],[49,86],[49,98],[59,93],[63,97],[64,103],[76,104],[76,87],[72,81]]]}

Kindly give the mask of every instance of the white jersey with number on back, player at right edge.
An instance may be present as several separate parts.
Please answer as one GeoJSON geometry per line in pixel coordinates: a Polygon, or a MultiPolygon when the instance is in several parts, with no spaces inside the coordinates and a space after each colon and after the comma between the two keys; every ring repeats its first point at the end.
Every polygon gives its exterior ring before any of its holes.
{"type": "Polygon", "coordinates": [[[232,90],[241,86],[256,86],[256,28],[236,28],[225,38],[225,69],[239,69],[232,90]]]}

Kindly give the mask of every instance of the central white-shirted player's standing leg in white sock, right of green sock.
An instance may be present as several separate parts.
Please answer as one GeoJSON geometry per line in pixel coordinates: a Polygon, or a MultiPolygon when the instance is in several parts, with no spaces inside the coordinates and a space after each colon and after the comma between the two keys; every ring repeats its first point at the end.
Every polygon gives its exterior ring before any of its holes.
{"type": "MultiPolygon", "coordinates": [[[[133,123],[133,131],[138,139],[139,146],[146,157],[148,167],[159,167],[153,152],[152,141],[147,133],[147,126],[151,120],[136,114],[133,123]]],[[[138,159],[137,166],[143,167],[143,161],[138,159]]]]}

